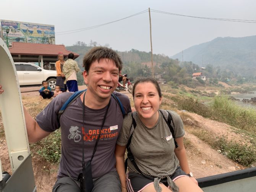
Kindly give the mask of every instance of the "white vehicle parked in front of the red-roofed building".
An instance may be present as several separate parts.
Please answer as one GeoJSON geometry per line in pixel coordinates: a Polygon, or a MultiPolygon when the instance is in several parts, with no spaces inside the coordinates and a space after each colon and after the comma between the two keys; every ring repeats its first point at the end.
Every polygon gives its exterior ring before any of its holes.
{"type": "Polygon", "coordinates": [[[52,90],[55,90],[57,72],[45,70],[33,63],[15,63],[19,79],[19,86],[40,86],[47,81],[52,90]]]}

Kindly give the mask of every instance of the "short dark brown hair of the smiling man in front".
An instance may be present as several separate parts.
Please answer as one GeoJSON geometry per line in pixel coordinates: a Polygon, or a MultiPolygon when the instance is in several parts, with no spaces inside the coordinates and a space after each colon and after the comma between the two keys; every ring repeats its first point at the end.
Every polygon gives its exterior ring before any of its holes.
{"type": "Polygon", "coordinates": [[[110,59],[114,61],[115,65],[119,69],[122,70],[123,62],[120,56],[114,50],[107,47],[94,47],[89,52],[84,55],[83,65],[84,70],[89,71],[91,64],[94,61],[100,61],[100,59],[110,59]]]}

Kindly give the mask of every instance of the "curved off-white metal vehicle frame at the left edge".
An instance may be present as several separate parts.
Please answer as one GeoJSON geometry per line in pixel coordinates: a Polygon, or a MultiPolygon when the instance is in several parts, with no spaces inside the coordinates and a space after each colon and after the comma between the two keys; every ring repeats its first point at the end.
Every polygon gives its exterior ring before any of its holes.
{"type": "Polygon", "coordinates": [[[0,39],[0,84],[5,92],[0,95],[0,110],[6,142],[14,172],[30,154],[21,92],[11,53],[0,39]]]}

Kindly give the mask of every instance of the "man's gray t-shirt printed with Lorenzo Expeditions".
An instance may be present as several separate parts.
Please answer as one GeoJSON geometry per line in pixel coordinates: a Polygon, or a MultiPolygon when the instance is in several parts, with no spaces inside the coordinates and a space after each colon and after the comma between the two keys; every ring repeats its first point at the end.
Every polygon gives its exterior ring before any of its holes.
{"type": "MultiPolygon", "coordinates": [[[[126,95],[117,94],[127,113],[130,107],[130,100],[126,95]]],[[[63,176],[77,178],[82,171],[82,148],[84,138],[84,160],[91,159],[94,145],[99,135],[102,121],[107,106],[94,110],[85,106],[85,120],[83,129],[83,102],[78,97],[72,102],[60,117],[58,123],[58,111],[70,97],[70,93],[62,93],[54,98],[47,107],[39,113],[36,121],[39,126],[48,132],[53,132],[61,127],[62,156],[58,171],[58,179],[63,176]],[[84,133],[84,134],[83,134],[84,133]],[[83,137],[84,135],[84,137],[83,137]],[[67,171],[68,173],[67,173],[67,171]]],[[[109,171],[115,171],[115,144],[122,127],[123,115],[117,101],[111,97],[109,111],[101,131],[97,151],[92,160],[92,177],[100,177],[109,171]]]]}

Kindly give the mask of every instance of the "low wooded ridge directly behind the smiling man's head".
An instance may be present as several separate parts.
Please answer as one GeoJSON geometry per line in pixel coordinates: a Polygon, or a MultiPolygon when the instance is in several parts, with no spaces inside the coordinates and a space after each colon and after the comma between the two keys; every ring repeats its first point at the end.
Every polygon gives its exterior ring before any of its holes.
{"type": "MultiPolygon", "coordinates": [[[[79,66],[83,65],[83,57],[91,48],[92,48],[91,46],[86,46],[83,44],[66,47],[67,50],[78,53],[80,55],[76,59],[79,66]]],[[[148,67],[151,67],[151,52],[147,53],[147,52],[141,52],[141,51],[132,49],[128,52],[118,52],[118,54],[122,58],[124,65],[126,65],[127,63],[138,63],[138,64],[144,63],[144,64],[147,64],[148,67]]],[[[154,65],[156,64],[161,65],[164,62],[170,63],[173,60],[165,55],[153,54],[153,61],[154,61],[154,65]]]]}

